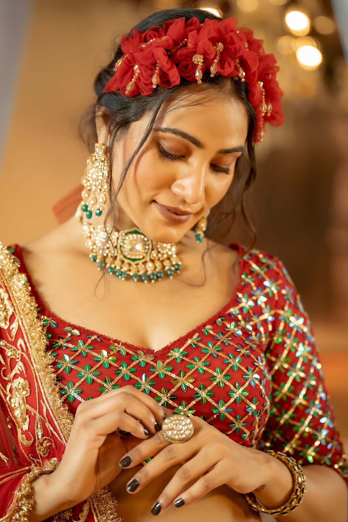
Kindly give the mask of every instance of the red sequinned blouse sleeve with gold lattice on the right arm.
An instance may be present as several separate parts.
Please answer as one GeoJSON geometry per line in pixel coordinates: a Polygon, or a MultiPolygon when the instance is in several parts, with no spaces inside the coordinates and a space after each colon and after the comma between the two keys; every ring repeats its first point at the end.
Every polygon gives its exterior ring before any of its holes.
{"type": "Polygon", "coordinates": [[[301,296],[276,259],[273,332],[266,350],[271,375],[270,417],[261,448],[293,456],[299,464],[322,464],[348,483],[348,470],[335,426],[315,337],[301,296]]]}

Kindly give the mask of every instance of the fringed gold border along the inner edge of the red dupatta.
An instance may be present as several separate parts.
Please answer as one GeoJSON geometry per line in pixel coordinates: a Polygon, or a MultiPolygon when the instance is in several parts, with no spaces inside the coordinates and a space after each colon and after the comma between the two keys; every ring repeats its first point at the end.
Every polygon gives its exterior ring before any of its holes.
{"type": "MultiPolygon", "coordinates": [[[[14,256],[0,241],[0,284],[7,291],[15,307],[15,315],[25,337],[45,404],[51,411],[52,419],[55,420],[56,427],[66,444],[69,440],[74,416],[68,410],[67,405],[63,405],[59,400],[55,372],[50,365],[52,358],[45,349],[47,338],[38,317],[38,304],[30,295],[30,287],[26,279],[26,275],[18,271],[18,263],[14,262],[14,256]]],[[[94,493],[88,500],[95,522],[121,522],[122,518],[116,512],[117,501],[107,486],[94,493]]],[[[0,522],[8,520],[10,518],[4,518],[0,519],[0,522]]],[[[26,520],[26,518],[22,520],[26,520]]]]}

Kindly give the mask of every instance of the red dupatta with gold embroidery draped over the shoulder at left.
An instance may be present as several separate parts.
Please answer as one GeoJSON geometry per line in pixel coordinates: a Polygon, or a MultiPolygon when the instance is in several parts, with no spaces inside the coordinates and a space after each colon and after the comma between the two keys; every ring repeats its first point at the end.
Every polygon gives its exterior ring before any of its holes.
{"type": "MultiPolygon", "coordinates": [[[[0,243],[0,522],[28,520],[31,480],[54,471],[74,420],[59,401],[37,303],[17,264],[0,243]]],[[[49,520],[120,522],[116,507],[105,487],[49,520]]]]}

